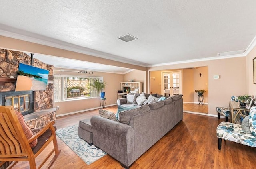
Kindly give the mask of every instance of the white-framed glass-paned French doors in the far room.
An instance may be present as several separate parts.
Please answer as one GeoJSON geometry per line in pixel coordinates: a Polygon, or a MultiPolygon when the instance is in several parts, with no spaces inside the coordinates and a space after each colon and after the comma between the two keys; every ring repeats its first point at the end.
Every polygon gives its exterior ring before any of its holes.
{"type": "Polygon", "coordinates": [[[182,94],[181,71],[162,72],[162,95],[182,94]]]}

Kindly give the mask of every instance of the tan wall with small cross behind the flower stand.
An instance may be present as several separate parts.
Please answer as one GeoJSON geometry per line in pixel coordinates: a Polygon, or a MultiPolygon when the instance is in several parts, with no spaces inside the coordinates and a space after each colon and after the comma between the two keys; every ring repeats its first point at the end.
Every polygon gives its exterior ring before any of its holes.
{"type": "MultiPolygon", "coordinates": [[[[194,90],[204,89],[204,103],[208,103],[208,67],[198,67],[194,70],[194,90]],[[200,77],[200,73],[202,73],[200,77]]],[[[194,92],[194,102],[198,102],[198,94],[194,92]]]]}

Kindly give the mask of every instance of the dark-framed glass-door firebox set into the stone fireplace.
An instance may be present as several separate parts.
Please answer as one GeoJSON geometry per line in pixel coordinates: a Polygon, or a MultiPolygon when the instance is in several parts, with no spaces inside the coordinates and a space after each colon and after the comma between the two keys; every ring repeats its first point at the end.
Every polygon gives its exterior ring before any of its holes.
{"type": "Polygon", "coordinates": [[[34,92],[0,92],[0,104],[2,106],[13,106],[15,110],[22,113],[22,115],[34,112],[34,92]]]}

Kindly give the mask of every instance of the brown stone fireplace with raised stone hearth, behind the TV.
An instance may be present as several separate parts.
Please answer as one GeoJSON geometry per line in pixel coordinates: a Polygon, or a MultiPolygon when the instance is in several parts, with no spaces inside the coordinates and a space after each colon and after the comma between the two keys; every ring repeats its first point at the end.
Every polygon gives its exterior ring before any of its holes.
{"type": "Polygon", "coordinates": [[[14,106],[30,127],[42,127],[48,121],[56,119],[56,109],[53,108],[53,66],[33,59],[32,66],[49,71],[46,90],[16,92],[14,89],[19,63],[30,65],[31,56],[19,51],[0,49],[0,105],[14,106]]]}

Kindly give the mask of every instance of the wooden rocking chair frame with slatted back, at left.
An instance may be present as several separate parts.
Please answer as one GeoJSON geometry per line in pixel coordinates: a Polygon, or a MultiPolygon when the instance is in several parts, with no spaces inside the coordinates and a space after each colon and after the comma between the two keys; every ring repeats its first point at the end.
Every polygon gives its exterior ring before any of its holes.
{"type": "MultiPolygon", "coordinates": [[[[24,120],[23,117],[22,119],[24,120]]],[[[53,149],[38,167],[40,169],[52,153],[55,152],[54,157],[47,166],[47,168],[50,168],[60,153],[53,126],[54,123],[54,121],[49,122],[34,136],[27,139],[13,107],[0,106],[0,166],[6,161],[13,161],[8,167],[8,169],[11,169],[18,161],[28,161],[30,169],[36,169],[35,158],[47,145],[53,142],[53,149]],[[36,139],[38,143],[34,148],[31,148],[30,143],[36,139]]]]}

